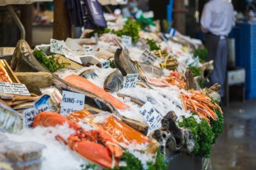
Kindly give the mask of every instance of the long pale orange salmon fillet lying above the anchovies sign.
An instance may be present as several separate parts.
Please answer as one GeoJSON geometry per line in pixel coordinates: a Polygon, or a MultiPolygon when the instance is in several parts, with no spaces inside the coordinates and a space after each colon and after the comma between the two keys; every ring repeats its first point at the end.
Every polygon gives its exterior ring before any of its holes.
{"type": "Polygon", "coordinates": [[[88,81],[86,78],[82,78],[79,75],[69,75],[64,78],[64,81],[67,81],[73,86],[77,86],[81,89],[87,90],[95,95],[98,95],[99,97],[104,98],[106,101],[113,104],[113,106],[117,109],[124,110],[130,108],[128,105],[124,104],[122,101],[119,101],[117,98],[106,92],[104,89],[96,86],[95,84],[88,81]]]}

